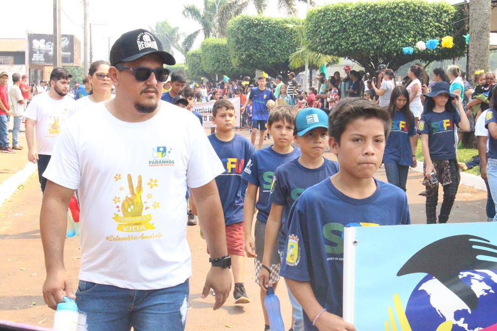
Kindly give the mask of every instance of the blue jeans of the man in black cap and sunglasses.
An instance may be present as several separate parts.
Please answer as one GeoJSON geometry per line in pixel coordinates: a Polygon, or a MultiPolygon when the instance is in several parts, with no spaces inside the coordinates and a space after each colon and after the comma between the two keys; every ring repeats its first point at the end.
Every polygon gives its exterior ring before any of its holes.
{"type": "Polygon", "coordinates": [[[80,280],[78,309],[86,314],[88,331],[184,330],[188,280],[158,290],[130,290],[80,280]]]}

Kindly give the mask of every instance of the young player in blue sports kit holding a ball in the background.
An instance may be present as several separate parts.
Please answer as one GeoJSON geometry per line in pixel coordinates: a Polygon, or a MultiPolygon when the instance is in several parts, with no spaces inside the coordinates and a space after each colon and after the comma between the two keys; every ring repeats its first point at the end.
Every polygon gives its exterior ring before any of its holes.
{"type": "Polygon", "coordinates": [[[255,147],[255,137],[257,129],[259,129],[260,134],[258,149],[262,148],[262,142],[264,141],[264,136],[267,130],[266,123],[269,111],[267,110],[266,102],[268,100],[276,101],[276,97],[270,89],[266,88],[266,78],[264,76],[259,76],[257,78],[257,87],[253,87],[250,90],[250,95],[248,96],[245,105],[241,108],[241,111],[244,112],[248,103],[252,101],[252,135],[250,136],[250,141],[255,147]]]}

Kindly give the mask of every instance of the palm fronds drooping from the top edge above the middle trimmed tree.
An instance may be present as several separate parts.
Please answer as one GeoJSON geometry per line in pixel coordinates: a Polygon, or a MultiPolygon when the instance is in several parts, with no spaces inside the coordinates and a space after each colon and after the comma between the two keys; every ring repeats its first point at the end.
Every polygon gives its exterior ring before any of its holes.
{"type": "MultiPolygon", "coordinates": [[[[296,1],[307,2],[307,0],[278,0],[278,9],[285,10],[289,16],[295,16],[297,14],[297,8],[295,6],[296,1]]],[[[310,3],[314,5],[314,1],[311,0],[310,3]]],[[[242,14],[250,4],[253,4],[257,14],[262,14],[262,12],[267,7],[267,0],[228,0],[219,8],[217,14],[217,22],[220,31],[226,31],[226,24],[228,21],[240,14],[242,14]]]]}

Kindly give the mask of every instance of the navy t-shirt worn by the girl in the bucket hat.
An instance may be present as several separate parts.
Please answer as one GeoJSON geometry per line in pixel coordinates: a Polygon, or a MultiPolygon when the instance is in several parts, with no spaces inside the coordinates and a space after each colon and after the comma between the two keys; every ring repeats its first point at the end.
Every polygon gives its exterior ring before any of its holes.
{"type": "Polygon", "coordinates": [[[454,130],[461,122],[457,111],[441,113],[430,111],[421,115],[417,123],[417,133],[428,134],[428,149],[432,160],[452,160],[456,158],[454,130]]]}

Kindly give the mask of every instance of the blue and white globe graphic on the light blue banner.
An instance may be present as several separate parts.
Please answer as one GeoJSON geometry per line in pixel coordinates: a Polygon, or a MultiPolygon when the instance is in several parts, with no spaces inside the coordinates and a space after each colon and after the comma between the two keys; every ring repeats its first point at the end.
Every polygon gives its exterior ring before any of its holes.
{"type": "Polygon", "coordinates": [[[497,270],[463,271],[459,278],[477,295],[477,308],[472,311],[428,274],[416,285],[407,303],[406,316],[413,331],[435,331],[447,321],[452,322],[452,331],[477,331],[497,324],[497,270]]]}

